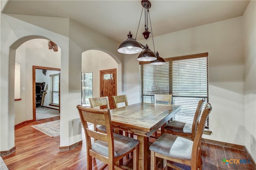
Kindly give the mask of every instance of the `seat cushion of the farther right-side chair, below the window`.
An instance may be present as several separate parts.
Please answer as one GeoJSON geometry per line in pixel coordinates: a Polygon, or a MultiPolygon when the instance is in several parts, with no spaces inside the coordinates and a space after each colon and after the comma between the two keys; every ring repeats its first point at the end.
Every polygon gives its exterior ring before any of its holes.
{"type": "Polygon", "coordinates": [[[192,133],[192,123],[184,123],[181,121],[171,121],[164,127],[166,130],[179,133],[192,133]]]}

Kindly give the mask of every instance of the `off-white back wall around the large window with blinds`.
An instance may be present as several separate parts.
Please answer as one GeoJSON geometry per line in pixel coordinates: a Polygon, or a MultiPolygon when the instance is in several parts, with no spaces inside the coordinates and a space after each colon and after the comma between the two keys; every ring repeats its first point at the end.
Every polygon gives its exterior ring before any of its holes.
{"type": "MultiPolygon", "coordinates": [[[[152,48],[152,40],[141,41],[152,48]]],[[[154,37],[163,58],[208,52],[212,135],[204,138],[244,145],[244,56],[242,17],[154,37]]],[[[124,56],[124,93],[139,101],[138,55],[124,56]]],[[[131,104],[131,102],[130,102],[131,104]]],[[[255,123],[255,122],[254,122],[255,123]]]]}

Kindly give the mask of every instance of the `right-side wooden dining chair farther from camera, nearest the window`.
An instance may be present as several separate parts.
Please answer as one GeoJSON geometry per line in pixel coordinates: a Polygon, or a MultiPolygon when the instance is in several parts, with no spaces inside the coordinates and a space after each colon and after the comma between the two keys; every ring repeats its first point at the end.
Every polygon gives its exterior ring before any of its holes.
{"type": "Polygon", "coordinates": [[[194,141],[194,137],[196,136],[196,129],[199,123],[200,114],[201,114],[202,107],[205,100],[206,100],[205,98],[202,98],[201,100],[198,101],[193,123],[184,123],[181,121],[170,121],[170,123],[164,126],[165,133],[170,133],[170,134],[178,135],[182,137],[188,137],[192,139],[192,141],[194,141]]]}

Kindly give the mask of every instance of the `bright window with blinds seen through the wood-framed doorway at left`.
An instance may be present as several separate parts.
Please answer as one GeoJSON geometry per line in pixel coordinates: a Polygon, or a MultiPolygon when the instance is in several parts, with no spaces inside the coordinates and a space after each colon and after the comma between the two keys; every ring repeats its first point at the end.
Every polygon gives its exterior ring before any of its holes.
{"type": "Polygon", "coordinates": [[[50,75],[50,104],[59,105],[60,73],[50,75]]]}

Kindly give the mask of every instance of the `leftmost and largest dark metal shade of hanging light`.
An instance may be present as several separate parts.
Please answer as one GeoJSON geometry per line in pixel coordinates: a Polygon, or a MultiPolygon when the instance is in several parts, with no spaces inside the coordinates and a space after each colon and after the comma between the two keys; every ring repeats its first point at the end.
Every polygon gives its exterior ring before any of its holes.
{"type": "Polygon", "coordinates": [[[117,51],[123,54],[136,54],[142,52],[142,47],[140,43],[132,38],[131,31],[127,36],[128,39],[126,39],[119,45],[117,51]]]}

